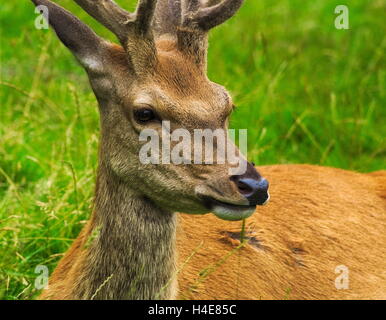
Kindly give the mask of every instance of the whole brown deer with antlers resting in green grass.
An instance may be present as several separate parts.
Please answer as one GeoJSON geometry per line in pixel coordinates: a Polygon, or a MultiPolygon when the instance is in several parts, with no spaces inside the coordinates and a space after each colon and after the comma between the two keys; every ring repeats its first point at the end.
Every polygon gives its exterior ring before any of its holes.
{"type": "Polygon", "coordinates": [[[228,128],[234,104],[207,77],[208,33],[243,0],[138,0],[134,12],[75,0],[119,44],[32,1],[85,69],[101,126],[91,217],[40,299],[386,298],[386,171],[256,167],[241,152],[236,175],[229,163],[139,161],[139,133],[163,120],[228,128]]]}

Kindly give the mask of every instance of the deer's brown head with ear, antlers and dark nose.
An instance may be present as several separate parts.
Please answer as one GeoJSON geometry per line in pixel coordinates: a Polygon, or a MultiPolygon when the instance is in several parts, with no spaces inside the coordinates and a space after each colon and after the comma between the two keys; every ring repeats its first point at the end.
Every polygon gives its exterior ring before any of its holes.
{"type": "MultiPolygon", "coordinates": [[[[107,27],[120,45],[48,0],[49,22],[85,68],[101,115],[100,167],[139,196],[169,211],[214,212],[223,219],[251,215],[268,200],[268,183],[247,163],[230,175],[229,163],[144,164],[139,135],[162,121],[171,130],[227,129],[233,103],[206,76],[208,31],[232,17],[243,0],[203,6],[199,0],[139,0],[129,13],[110,0],[75,0],[107,27]]],[[[216,149],[216,145],[214,146],[216,149]]]]}

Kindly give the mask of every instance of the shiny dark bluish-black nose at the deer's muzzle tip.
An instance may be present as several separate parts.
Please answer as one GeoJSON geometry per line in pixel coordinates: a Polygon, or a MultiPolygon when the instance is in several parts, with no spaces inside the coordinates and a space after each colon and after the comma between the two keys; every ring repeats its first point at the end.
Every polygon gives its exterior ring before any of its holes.
{"type": "Polygon", "coordinates": [[[269,200],[269,183],[262,178],[252,165],[248,165],[243,175],[232,176],[237,190],[249,201],[251,206],[264,205],[269,200]]]}

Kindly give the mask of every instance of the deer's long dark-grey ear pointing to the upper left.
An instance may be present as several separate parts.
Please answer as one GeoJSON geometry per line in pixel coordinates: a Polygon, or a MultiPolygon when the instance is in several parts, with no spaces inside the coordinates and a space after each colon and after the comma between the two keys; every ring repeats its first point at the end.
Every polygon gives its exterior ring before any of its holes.
{"type": "Polygon", "coordinates": [[[32,0],[36,6],[45,6],[45,16],[63,44],[71,50],[81,65],[89,71],[101,71],[105,41],[67,10],[49,0],[32,0]]]}

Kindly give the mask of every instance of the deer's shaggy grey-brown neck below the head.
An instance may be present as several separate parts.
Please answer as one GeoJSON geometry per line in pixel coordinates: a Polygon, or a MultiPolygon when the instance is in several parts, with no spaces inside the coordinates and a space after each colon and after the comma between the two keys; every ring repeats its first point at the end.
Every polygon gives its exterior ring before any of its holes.
{"type": "Polygon", "coordinates": [[[84,246],[86,299],[173,299],[176,215],[157,208],[100,166],[84,246]]]}

